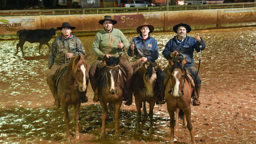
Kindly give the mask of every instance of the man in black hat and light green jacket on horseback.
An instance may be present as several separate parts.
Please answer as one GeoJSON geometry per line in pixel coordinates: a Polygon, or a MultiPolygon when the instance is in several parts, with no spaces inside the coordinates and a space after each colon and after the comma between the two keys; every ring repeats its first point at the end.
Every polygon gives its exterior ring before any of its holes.
{"type": "MultiPolygon", "coordinates": [[[[94,42],[92,44],[92,51],[98,58],[92,63],[92,66],[89,70],[89,77],[92,89],[94,90],[94,102],[99,101],[98,92],[96,90],[97,87],[97,76],[95,76],[97,65],[103,59],[104,56],[109,58],[110,56],[118,57],[122,54],[123,48],[129,47],[129,41],[126,39],[124,34],[119,30],[113,28],[113,25],[117,23],[117,21],[112,20],[111,16],[105,16],[103,20],[99,21],[100,24],[104,26],[104,29],[98,32],[95,35],[94,42]]],[[[124,94],[125,105],[132,104],[132,95],[128,94],[128,89],[130,87],[133,69],[130,66],[130,63],[123,56],[119,62],[124,70],[126,71],[126,90],[124,94]]]]}

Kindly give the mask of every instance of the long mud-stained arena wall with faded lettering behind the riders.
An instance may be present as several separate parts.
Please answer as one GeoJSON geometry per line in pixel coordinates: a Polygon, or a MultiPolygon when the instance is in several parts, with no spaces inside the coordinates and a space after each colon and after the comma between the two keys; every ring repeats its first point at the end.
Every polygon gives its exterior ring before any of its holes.
{"type": "Polygon", "coordinates": [[[139,13],[109,13],[92,15],[16,16],[0,17],[0,35],[16,34],[19,29],[49,29],[69,22],[75,31],[100,31],[98,23],[105,15],[118,21],[114,28],[135,29],[144,22],[155,28],[168,28],[185,22],[190,26],[211,25],[221,27],[225,23],[256,22],[256,8],[162,11],[139,13]]]}

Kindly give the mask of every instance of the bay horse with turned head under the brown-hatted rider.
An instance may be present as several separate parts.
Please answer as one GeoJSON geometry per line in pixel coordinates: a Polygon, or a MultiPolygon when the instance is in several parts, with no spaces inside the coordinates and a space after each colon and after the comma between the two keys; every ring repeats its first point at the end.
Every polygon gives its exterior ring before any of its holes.
{"type": "Polygon", "coordinates": [[[156,86],[156,69],[154,63],[146,61],[142,67],[133,73],[133,95],[137,108],[137,128],[136,134],[140,134],[140,119],[142,103],[144,115],[148,116],[145,107],[145,101],[149,103],[150,133],[153,132],[153,109],[155,106],[155,97],[158,94],[156,86]]]}

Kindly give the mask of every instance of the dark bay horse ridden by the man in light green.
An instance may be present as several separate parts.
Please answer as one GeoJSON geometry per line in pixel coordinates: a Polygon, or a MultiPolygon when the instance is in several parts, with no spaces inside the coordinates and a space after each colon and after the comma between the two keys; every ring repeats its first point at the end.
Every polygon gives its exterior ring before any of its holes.
{"type": "Polygon", "coordinates": [[[122,105],[123,101],[123,94],[124,94],[124,81],[125,75],[124,70],[121,65],[119,65],[119,61],[121,59],[120,54],[118,57],[104,57],[106,61],[106,66],[102,68],[101,72],[99,73],[99,80],[97,82],[98,95],[100,97],[100,104],[102,109],[102,127],[101,127],[101,138],[105,138],[105,121],[107,118],[107,103],[109,105],[114,106],[114,121],[116,123],[115,126],[115,138],[119,138],[119,110],[122,105]]]}

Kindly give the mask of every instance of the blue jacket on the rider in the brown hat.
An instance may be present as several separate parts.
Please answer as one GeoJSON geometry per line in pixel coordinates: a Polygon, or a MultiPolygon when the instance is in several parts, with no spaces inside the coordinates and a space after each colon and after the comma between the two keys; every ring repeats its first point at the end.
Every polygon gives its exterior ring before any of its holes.
{"type": "MultiPolygon", "coordinates": [[[[148,58],[149,61],[155,62],[155,60],[158,59],[159,53],[158,53],[158,44],[157,41],[150,37],[147,39],[142,38],[142,34],[139,35],[139,37],[136,37],[133,39],[132,43],[134,42],[134,55],[131,55],[132,50],[129,49],[127,51],[129,56],[134,56],[135,59],[140,59],[140,55],[142,57],[148,58]]],[[[132,45],[132,43],[130,45],[132,45]]]]}

